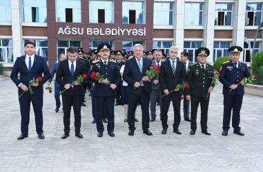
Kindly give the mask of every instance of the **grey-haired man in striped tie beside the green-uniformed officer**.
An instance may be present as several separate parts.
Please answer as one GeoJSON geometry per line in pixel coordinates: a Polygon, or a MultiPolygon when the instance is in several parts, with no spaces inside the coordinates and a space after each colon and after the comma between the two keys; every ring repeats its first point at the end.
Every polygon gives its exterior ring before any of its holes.
{"type": "Polygon", "coordinates": [[[178,84],[182,84],[186,80],[186,70],[184,69],[184,63],[177,60],[178,48],[171,47],[169,50],[170,58],[168,61],[164,61],[160,67],[159,83],[163,91],[162,97],[162,134],[167,132],[167,120],[168,109],[170,107],[171,98],[173,100],[173,132],[182,134],[178,127],[181,121],[180,116],[180,103],[182,96],[182,89],[176,89],[175,92],[171,92],[178,84]],[[169,92],[171,92],[169,94],[169,92]]]}

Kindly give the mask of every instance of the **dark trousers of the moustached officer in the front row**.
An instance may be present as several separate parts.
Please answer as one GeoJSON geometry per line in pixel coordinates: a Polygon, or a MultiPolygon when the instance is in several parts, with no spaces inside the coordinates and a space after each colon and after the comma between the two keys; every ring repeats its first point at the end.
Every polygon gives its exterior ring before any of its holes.
{"type": "Polygon", "coordinates": [[[97,131],[103,132],[104,131],[104,125],[102,123],[102,118],[105,113],[108,117],[108,125],[107,125],[107,131],[113,132],[114,131],[114,99],[115,96],[105,96],[105,97],[94,97],[95,105],[96,105],[96,125],[97,125],[97,131]]]}

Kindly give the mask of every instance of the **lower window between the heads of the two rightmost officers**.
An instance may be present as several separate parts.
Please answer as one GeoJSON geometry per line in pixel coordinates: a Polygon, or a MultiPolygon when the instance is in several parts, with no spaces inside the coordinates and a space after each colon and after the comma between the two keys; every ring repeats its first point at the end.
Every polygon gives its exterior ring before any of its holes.
{"type": "Polygon", "coordinates": [[[215,62],[217,58],[220,58],[222,56],[229,56],[229,47],[230,42],[214,42],[213,62],[215,62]]]}

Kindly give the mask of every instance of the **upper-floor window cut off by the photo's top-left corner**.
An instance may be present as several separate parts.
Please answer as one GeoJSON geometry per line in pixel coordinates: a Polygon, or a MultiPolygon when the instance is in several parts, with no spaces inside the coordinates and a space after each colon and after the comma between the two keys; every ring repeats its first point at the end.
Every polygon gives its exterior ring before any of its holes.
{"type": "Polygon", "coordinates": [[[10,0],[0,1],[0,21],[11,21],[10,0]]]}

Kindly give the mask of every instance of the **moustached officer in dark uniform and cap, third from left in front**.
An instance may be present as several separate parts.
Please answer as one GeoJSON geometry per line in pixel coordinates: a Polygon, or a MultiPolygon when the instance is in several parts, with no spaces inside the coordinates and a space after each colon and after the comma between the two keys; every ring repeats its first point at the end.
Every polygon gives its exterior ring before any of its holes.
{"type": "Polygon", "coordinates": [[[121,74],[117,67],[117,63],[113,60],[108,59],[110,56],[110,44],[101,43],[97,51],[101,56],[100,60],[93,61],[90,65],[90,71],[88,73],[91,76],[92,72],[99,72],[99,75],[104,75],[104,80],[95,80],[90,78],[95,82],[94,87],[94,100],[96,106],[96,124],[97,124],[97,136],[101,138],[104,132],[104,125],[102,124],[102,116],[104,114],[104,109],[106,108],[108,115],[108,135],[114,137],[114,99],[116,96],[116,87],[119,85],[121,80],[121,74]],[[110,84],[107,83],[107,80],[110,84]],[[106,107],[104,107],[106,106],[106,107]]]}

